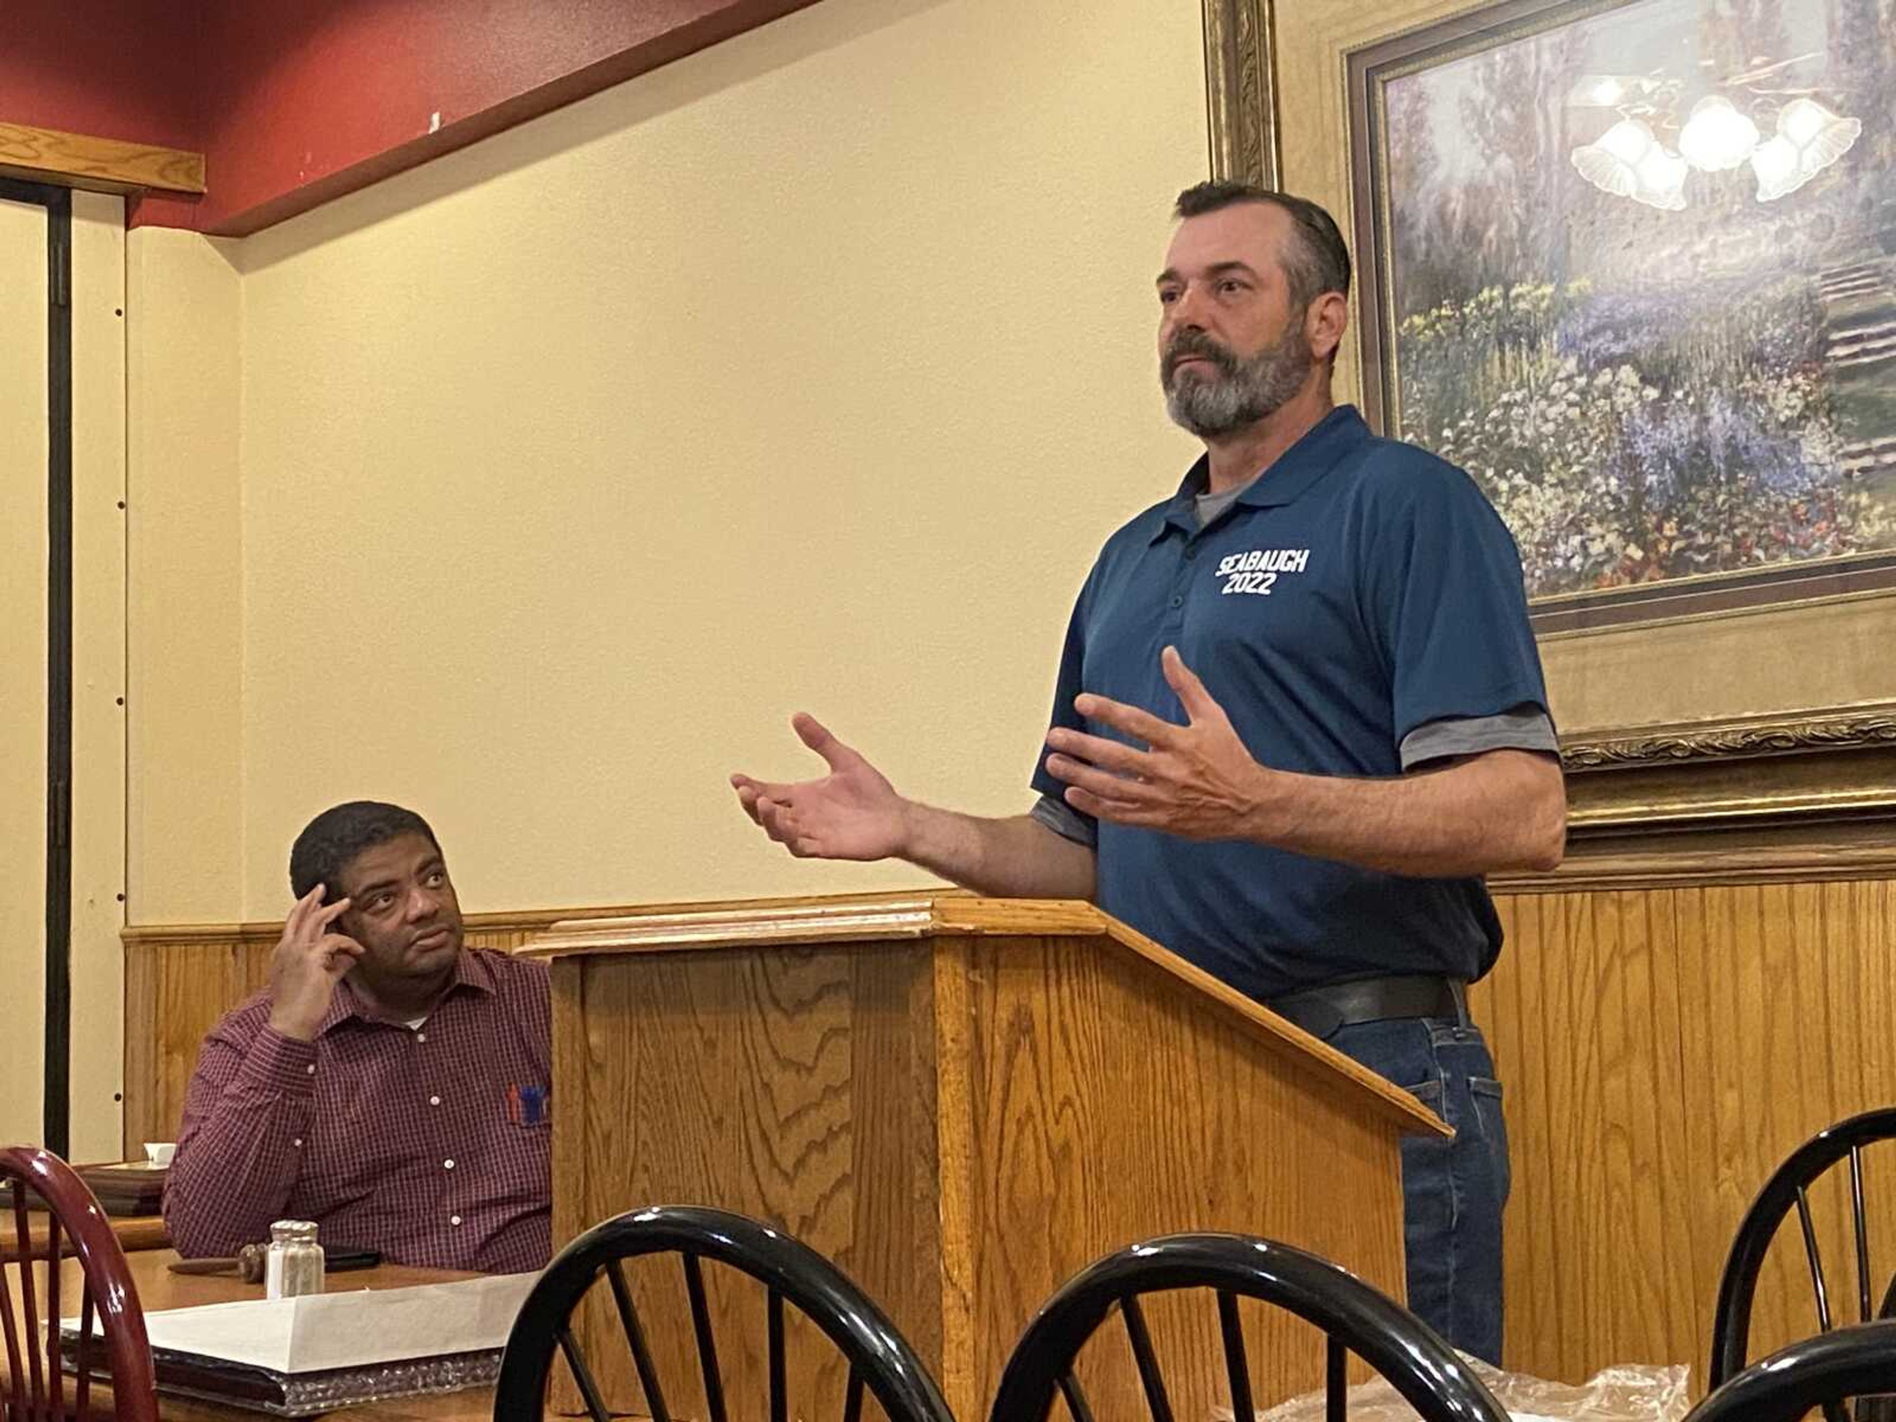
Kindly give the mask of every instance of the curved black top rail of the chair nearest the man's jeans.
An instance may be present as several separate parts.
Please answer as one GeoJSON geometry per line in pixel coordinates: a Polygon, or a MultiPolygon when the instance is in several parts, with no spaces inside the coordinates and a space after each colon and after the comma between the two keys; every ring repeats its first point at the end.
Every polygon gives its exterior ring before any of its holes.
{"type": "MultiPolygon", "coordinates": [[[[1083,1268],[1014,1346],[990,1422],[1043,1422],[1071,1382],[1075,1356],[1115,1306],[1194,1287],[1263,1299],[1314,1323],[1376,1369],[1428,1422],[1507,1422],[1481,1378],[1407,1308],[1327,1259],[1246,1234],[1170,1234],[1083,1268]]],[[[1231,1346],[1227,1335],[1227,1352],[1231,1346]]]]}

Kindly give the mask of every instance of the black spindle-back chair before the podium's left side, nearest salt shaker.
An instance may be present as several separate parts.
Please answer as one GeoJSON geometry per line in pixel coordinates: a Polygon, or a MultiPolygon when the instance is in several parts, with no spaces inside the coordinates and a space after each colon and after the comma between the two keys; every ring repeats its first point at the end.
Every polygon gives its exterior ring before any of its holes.
{"type": "MultiPolygon", "coordinates": [[[[785,1304],[815,1323],[848,1361],[844,1422],[861,1418],[865,1390],[880,1403],[889,1422],[954,1422],[927,1367],[868,1295],[840,1268],[806,1244],[755,1219],[690,1206],[660,1206],[618,1215],[586,1231],[556,1255],[521,1304],[508,1335],[493,1403],[495,1422],[544,1416],[546,1382],[556,1354],[565,1356],[593,1422],[607,1422],[612,1416],[571,1327],[573,1312],[601,1280],[612,1293],[645,1392],[645,1407],[652,1422],[671,1422],[664,1380],[658,1376],[624,1270],[628,1259],[667,1253],[679,1255],[681,1261],[681,1287],[690,1304],[709,1422],[728,1422],[728,1409],[705,1295],[705,1261],[747,1274],[766,1289],[772,1422],[787,1422],[793,1414],[787,1397],[785,1304]]],[[[751,1409],[739,1411],[749,1414],[751,1409]]],[[[808,1413],[798,1411],[796,1416],[808,1413]]]]}

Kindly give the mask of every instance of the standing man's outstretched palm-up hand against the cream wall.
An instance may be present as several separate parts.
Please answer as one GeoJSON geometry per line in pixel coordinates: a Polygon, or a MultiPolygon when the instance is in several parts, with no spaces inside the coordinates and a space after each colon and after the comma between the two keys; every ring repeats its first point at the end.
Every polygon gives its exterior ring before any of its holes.
{"type": "Polygon", "coordinates": [[[868,760],[808,711],[791,717],[796,736],[830,774],[794,785],[732,775],[743,811],[798,859],[887,859],[908,842],[908,802],[868,760]]]}

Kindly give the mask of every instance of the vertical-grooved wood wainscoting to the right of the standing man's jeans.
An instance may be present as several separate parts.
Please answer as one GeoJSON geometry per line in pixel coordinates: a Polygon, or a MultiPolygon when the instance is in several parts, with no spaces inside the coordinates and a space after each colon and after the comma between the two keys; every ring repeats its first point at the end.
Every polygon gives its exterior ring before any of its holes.
{"type": "MultiPolygon", "coordinates": [[[[1731,1234],[1803,1139],[1896,1102],[1896,882],[1500,899],[1477,986],[1505,1083],[1507,1365],[1579,1380],[1691,1363],[1703,1386],[1731,1234]]],[[[1873,1293],[1896,1270],[1896,1147],[1866,1155],[1873,1293]]],[[[1813,1196],[1837,1308],[1856,1280],[1841,1181],[1813,1196]]],[[[1752,1354],[1816,1331],[1796,1225],[1752,1354]]]]}

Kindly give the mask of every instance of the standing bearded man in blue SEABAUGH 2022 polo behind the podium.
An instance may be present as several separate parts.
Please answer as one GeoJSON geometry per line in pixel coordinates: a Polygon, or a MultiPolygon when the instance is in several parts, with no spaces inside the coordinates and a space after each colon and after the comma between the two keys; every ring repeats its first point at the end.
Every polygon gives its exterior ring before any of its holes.
{"type": "Polygon", "coordinates": [[[1466,984],[1490,870],[1560,861],[1566,796],[1513,538],[1466,474],[1331,400],[1350,256],[1299,197],[1177,201],[1158,370],[1206,453],[1081,590],[1026,815],[906,800],[829,764],[738,798],[793,855],[906,859],[986,895],[1094,899],[1420,1096],[1409,1303],[1502,1358],[1500,1085],[1466,984]]]}

